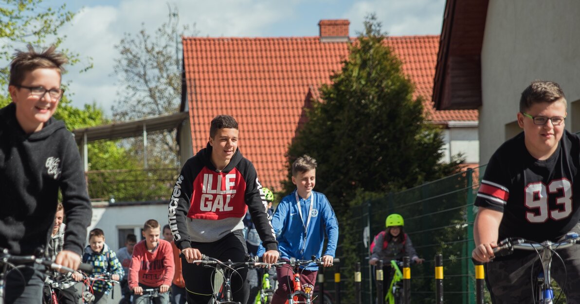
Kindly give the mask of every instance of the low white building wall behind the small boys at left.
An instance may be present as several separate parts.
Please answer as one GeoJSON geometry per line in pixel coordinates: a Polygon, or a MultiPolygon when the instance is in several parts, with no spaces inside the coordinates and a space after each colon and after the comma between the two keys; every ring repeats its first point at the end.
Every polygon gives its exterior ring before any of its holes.
{"type": "Polygon", "coordinates": [[[168,206],[165,203],[161,205],[93,206],[93,219],[88,231],[94,228],[103,230],[105,243],[111,249],[117,251],[119,249],[119,228],[134,228],[137,241],[139,241],[142,237],[140,231],[147,220],[157,220],[161,228],[168,224],[167,208],[168,206]]]}

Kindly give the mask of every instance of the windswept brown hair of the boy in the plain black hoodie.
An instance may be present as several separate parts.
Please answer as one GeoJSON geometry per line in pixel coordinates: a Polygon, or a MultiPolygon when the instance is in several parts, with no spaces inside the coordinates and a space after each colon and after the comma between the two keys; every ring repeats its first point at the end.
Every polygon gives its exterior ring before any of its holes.
{"type": "Polygon", "coordinates": [[[14,58],[10,62],[9,85],[20,85],[26,73],[36,69],[56,69],[62,75],[66,70],[63,65],[68,63],[68,59],[63,53],[55,52],[56,47],[51,45],[42,52],[37,52],[32,45],[26,46],[28,51],[16,50],[14,58]]]}

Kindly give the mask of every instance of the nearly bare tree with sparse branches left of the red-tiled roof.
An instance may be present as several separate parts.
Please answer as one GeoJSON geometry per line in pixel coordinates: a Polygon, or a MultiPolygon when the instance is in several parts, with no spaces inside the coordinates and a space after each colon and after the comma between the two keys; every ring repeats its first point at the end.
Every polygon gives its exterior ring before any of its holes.
{"type": "MultiPolygon", "coordinates": [[[[115,120],[179,111],[182,63],[177,51],[181,44],[178,39],[189,26],[179,27],[176,19],[177,13],[170,13],[169,20],[157,28],[153,36],[143,24],[139,33],[125,33],[115,45],[120,57],[115,59],[114,71],[123,85],[112,107],[115,120]]],[[[177,163],[174,131],[148,135],[147,141],[150,142],[148,157],[166,164],[177,163]]]]}

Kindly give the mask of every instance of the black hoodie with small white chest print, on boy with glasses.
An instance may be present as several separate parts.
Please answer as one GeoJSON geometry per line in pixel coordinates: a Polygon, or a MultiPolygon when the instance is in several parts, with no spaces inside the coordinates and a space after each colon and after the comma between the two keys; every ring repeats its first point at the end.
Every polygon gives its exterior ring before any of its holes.
{"type": "Polygon", "coordinates": [[[44,248],[59,189],[67,224],[64,249],[82,255],[92,211],[73,134],[53,117],[42,130],[26,134],[14,103],[0,109],[0,247],[14,255],[44,248]]]}

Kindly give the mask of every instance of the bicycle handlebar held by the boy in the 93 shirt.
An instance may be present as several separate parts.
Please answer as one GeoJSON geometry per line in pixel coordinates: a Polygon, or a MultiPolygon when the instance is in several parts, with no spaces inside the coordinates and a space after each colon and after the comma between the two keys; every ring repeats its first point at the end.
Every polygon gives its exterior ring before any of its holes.
{"type": "Polygon", "coordinates": [[[499,242],[499,246],[494,248],[495,256],[507,256],[513,253],[514,249],[527,251],[540,251],[543,249],[563,249],[573,246],[580,241],[580,235],[577,233],[568,233],[565,235],[565,240],[553,243],[551,241],[543,241],[542,243],[531,242],[523,238],[506,238],[499,242]]]}

